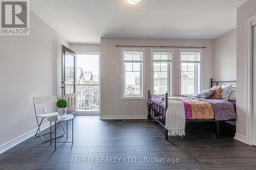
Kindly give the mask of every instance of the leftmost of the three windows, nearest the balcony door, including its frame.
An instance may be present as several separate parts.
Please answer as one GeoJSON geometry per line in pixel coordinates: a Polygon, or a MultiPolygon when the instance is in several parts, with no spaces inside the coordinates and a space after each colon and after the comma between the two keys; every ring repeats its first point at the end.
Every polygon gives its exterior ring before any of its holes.
{"type": "Polygon", "coordinates": [[[144,49],[122,50],[122,98],[143,98],[144,49]]]}

